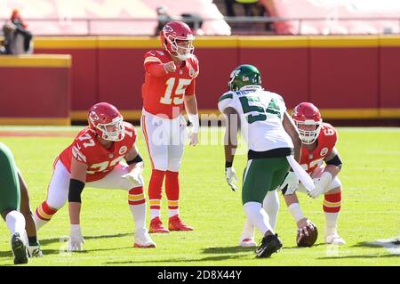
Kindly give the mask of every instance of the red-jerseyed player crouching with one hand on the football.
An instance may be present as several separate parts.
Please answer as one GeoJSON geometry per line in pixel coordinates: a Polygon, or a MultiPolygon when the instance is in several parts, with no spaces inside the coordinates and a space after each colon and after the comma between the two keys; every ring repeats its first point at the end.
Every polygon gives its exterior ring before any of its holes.
{"type": "MultiPolygon", "coordinates": [[[[310,102],[298,104],[293,109],[292,118],[299,129],[302,143],[300,165],[313,178],[316,188],[308,192],[293,174],[292,180],[285,180],[281,185],[286,205],[298,225],[300,236],[308,234],[308,227],[313,224],[303,215],[295,191],[306,192],[314,199],[324,194],[324,241],[328,244],[343,245],[345,241],[340,238],[337,230],[341,204],[341,183],[338,174],[342,162],[335,147],[338,141],[336,129],[323,122],[320,111],[310,102]]],[[[252,225],[246,222],[240,246],[256,245],[252,231],[252,225]]]]}

